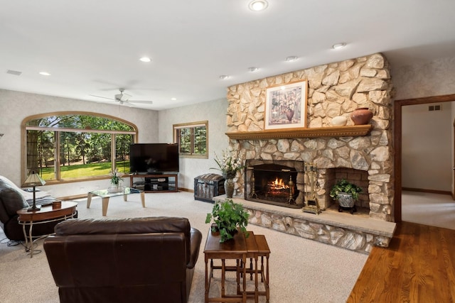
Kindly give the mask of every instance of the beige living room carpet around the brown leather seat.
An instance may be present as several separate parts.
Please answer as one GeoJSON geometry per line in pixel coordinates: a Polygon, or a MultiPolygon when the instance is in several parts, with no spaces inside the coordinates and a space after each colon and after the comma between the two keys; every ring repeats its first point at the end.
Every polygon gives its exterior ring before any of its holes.
{"type": "MultiPolygon", "coordinates": [[[[86,200],[79,202],[80,218],[100,218],[101,199],[92,199],[90,209],[86,200]]],[[[184,216],[203,233],[198,263],[191,287],[191,303],[204,302],[205,263],[203,248],[208,233],[205,215],[212,209],[208,202],[196,201],[189,192],[146,194],[146,208],[141,207],[139,194],[128,202],[112,198],[106,218],[137,216],[184,216]]],[[[298,236],[249,225],[255,234],[264,234],[271,250],[270,302],[346,302],[368,255],[329,246],[298,236]]],[[[0,229],[0,302],[52,303],[59,302],[58,289],[48,268],[45,253],[30,258],[23,246],[8,246],[0,229]]],[[[38,241],[38,249],[43,248],[38,241]]],[[[218,272],[215,272],[219,274],[218,272]]],[[[215,276],[210,294],[218,292],[215,276]]],[[[231,280],[232,284],[232,280],[231,280]]],[[[253,300],[249,300],[253,302],[253,300]]],[[[261,297],[259,302],[265,302],[261,297]]],[[[125,302],[127,303],[127,302],[125,302]]]]}

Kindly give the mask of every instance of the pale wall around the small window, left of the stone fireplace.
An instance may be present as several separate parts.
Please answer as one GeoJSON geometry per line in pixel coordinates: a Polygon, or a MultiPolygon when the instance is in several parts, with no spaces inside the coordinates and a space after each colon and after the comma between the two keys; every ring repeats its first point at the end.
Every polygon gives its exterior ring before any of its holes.
{"type": "Polygon", "coordinates": [[[173,124],[208,121],[208,159],[181,158],[178,187],[194,189],[195,177],[209,173],[220,174],[218,170],[210,170],[210,167],[216,165],[213,160],[215,153],[221,155],[228,148],[229,139],[225,135],[227,112],[226,99],[159,111],[160,142],[173,141],[173,124]]]}

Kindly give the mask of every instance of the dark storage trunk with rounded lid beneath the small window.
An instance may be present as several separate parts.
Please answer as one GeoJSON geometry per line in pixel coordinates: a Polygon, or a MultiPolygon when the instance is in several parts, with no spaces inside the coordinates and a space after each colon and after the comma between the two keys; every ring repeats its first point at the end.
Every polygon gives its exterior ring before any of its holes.
{"type": "Polygon", "coordinates": [[[194,199],[213,202],[213,197],[225,194],[225,179],[221,175],[205,174],[194,178],[194,199]]]}

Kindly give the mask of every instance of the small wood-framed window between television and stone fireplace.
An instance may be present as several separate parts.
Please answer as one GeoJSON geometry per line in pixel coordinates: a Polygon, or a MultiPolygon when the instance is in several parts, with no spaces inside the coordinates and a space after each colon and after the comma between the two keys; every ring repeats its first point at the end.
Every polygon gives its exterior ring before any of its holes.
{"type": "Polygon", "coordinates": [[[173,125],[173,141],[181,158],[208,158],[208,121],[173,125]]]}

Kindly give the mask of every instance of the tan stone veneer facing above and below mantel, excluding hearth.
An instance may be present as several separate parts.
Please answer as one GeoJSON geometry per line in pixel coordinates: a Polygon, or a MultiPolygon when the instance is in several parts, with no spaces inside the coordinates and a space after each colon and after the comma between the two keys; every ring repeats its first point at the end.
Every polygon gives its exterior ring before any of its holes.
{"type": "MultiPolygon", "coordinates": [[[[228,88],[228,132],[262,131],[266,89],[279,84],[308,80],[307,127],[331,126],[335,116],[348,117],[358,107],[373,111],[368,136],[291,138],[277,140],[230,140],[230,150],[243,160],[303,160],[319,171],[318,199],[326,204],[326,171],[334,167],[368,172],[370,218],[392,221],[392,82],[382,54],[319,65],[228,88]]],[[[289,130],[291,133],[292,130],[289,130]]],[[[243,194],[243,176],[237,174],[236,195],[243,194]]],[[[328,203],[329,204],[329,203],[328,203]]]]}

